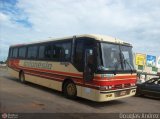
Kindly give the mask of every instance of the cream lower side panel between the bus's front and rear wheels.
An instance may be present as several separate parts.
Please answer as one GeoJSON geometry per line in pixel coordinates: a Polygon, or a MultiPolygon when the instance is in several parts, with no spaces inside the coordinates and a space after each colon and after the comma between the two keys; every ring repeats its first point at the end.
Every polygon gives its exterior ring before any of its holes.
{"type": "Polygon", "coordinates": [[[62,91],[62,82],[25,74],[25,80],[51,89],[62,91]]]}

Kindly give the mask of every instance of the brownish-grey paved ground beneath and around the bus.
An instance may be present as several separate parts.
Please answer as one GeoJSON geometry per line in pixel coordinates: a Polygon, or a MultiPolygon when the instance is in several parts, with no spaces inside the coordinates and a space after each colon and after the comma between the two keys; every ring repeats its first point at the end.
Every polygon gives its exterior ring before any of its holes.
{"type": "Polygon", "coordinates": [[[0,112],[123,113],[160,112],[160,100],[130,97],[96,103],[82,98],[66,99],[62,93],[27,83],[21,84],[0,69],[0,112]]]}

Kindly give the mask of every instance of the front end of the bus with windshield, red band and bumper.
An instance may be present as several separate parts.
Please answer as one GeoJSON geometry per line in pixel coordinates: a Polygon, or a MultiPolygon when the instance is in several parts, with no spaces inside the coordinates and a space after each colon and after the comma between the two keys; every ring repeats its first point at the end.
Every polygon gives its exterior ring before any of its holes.
{"type": "Polygon", "coordinates": [[[136,70],[132,46],[127,43],[99,43],[95,83],[97,101],[130,97],[136,93],[136,70]]]}

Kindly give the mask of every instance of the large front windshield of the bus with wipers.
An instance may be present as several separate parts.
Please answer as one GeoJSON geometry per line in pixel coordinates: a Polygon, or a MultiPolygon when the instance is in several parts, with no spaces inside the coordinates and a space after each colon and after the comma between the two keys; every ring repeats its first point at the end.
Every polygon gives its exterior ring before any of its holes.
{"type": "Polygon", "coordinates": [[[134,70],[132,47],[101,43],[103,70],[129,71],[134,70]]]}

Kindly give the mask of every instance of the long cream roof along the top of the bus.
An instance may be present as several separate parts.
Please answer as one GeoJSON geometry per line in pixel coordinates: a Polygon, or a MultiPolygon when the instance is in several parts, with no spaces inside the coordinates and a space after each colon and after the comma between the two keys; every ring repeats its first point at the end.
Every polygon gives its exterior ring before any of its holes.
{"type": "MultiPolygon", "coordinates": [[[[123,45],[131,46],[130,43],[127,43],[127,42],[124,42],[120,39],[117,39],[117,38],[114,38],[114,37],[111,37],[111,36],[106,36],[106,35],[83,34],[83,35],[74,35],[74,36],[76,38],[88,37],[88,38],[94,38],[94,39],[99,40],[99,41],[105,41],[105,42],[111,42],[111,43],[117,43],[117,44],[123,44],[123,45]]],[[[71,38],[73,38],[73,36],[68,36],[68,37],[63,37],[63,38],[48,38],[47,40],[41,40],[41,41],[36,41],[36,42],[11,45],[11,47],[24,46],[24,45],[37,44],[37,43],[45,43],[45,42],[50,42],[50,41],[59,41],[59,40],[65,40],[65,39],[71,39],[71,38]]]]}

